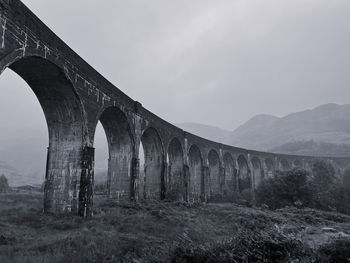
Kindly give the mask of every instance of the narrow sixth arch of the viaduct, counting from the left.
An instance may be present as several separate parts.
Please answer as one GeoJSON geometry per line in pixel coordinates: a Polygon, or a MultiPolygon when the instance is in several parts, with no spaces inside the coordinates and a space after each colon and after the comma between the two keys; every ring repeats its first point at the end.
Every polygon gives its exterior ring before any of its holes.
{"type": "Polygon", "coordinates": [[[209,164],[209,192],[210,196],[214,197],[221,194],[220,185],[220,157],[219,154],[211,149],[208,153],[209,164]]]}

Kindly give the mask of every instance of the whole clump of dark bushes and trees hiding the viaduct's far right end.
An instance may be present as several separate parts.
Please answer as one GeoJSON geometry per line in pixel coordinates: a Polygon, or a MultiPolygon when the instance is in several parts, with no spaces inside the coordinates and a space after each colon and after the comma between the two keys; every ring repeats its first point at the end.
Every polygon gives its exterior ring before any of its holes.
{"type": "Polygon", "coordinates": [[[263,180],[256,190],[258,205],[271,209],[285,206],[310,207],[350,215],[350,170],[342,177],[325,162],[316,162],[312,175],[294,169],[263,180]]]}

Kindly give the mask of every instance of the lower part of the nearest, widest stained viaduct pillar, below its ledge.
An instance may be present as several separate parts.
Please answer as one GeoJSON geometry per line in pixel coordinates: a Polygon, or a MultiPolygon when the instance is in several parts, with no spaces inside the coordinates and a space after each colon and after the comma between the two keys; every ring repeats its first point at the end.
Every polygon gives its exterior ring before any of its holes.
{"type": "Polygon", "coordinates": [[[48,147],[44,212],[92,215],[94,148],[48,147]]]}

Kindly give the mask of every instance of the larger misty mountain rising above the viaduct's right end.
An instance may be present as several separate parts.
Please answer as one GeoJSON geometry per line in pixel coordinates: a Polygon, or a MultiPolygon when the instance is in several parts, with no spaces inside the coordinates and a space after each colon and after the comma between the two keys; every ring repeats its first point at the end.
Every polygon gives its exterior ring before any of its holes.
{"type": "Polygon", "coordinates": [[[262,151],[349,156],[350,105],[325,104],[282,118],[257,115],[231,132],[226,143],[262,151]]]}

